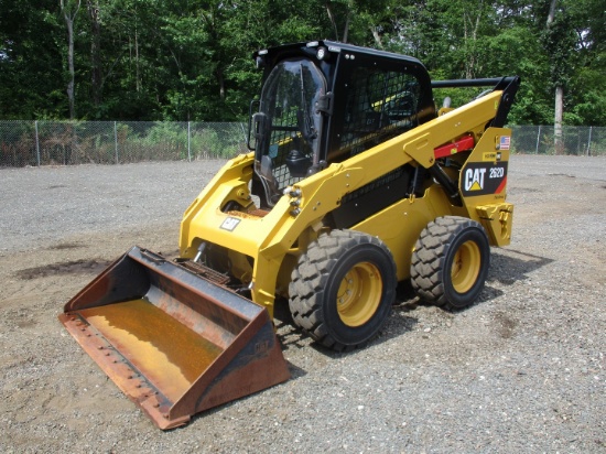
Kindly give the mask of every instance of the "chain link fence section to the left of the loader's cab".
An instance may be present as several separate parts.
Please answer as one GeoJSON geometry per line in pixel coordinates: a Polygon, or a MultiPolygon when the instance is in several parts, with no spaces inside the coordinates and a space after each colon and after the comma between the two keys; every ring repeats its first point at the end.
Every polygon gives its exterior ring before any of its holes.
{"type": "Polygon", "coordinates": [[[0,166],[123,164],[232,158],[245,123],[0,121],[0,166]]]}

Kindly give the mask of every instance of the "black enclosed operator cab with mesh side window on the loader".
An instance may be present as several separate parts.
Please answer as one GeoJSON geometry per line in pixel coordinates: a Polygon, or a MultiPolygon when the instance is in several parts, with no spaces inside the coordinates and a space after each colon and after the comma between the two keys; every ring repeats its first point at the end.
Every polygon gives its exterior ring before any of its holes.
{"type": "Polygon", "coordinates": [[[263,85],[251,104],[252,193],[266,207],[328,164],[435,118],[430,77],[415,58],[328,41],[253,56],[263,85]]]}

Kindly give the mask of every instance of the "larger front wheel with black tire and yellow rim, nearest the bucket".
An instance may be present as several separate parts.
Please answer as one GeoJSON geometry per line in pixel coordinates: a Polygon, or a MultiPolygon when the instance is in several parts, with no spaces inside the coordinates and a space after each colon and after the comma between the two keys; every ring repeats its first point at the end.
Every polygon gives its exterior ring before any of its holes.
{"type": "Polygon", "coordinates": [[[333,230],[300,257],[289,306],[294,323],[314,340],[337,352],[353,349],[387,322],[397,284],[396,263],[381,240],[333,230]]]}

